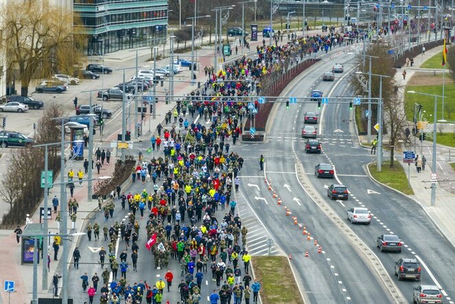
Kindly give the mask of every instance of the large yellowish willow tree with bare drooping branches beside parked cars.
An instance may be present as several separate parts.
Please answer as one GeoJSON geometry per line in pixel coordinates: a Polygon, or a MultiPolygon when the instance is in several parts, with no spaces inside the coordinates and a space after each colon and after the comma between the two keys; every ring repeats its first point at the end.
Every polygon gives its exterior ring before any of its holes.
{"type": "Polygon", "coordinates": [[[33,77],[71,72],[78,61],[73,16],[41,1],[12,1],[1,7],[0,30],[8,69],[19,68],[21,95],[33,77]]]}

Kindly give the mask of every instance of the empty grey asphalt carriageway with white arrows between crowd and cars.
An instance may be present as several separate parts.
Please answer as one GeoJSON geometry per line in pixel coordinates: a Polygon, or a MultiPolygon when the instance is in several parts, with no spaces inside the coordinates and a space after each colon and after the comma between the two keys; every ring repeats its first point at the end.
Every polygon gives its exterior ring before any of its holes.
{"type": "MultiPolygon", "coordinates": [[[[354,52],[335,55],[335,58],[324,60],[322,65],[314,69],[298,85],[291,88],[287,96],[309,96],[311,89],[329,92],[334,83],[323,83],[323,72],[329,71],[333,63],[346,61],[345,69],[352,65],[354,52]],[[351,53],[351,54],[349,54],[351,53]],[[340,56],[340,57],[338,57],[340,56]]],[[[340,78],[340,74],[337,74],[340,78]]],[[[276,112],[272,131],[267,135],[265,144],[251,144],[241,151],[254,160],[253,166],[247,166],[243,172],[241,194],[237,195],[239,204],[248,202],[255,213],[270,232],[274,242],[285,254],[291,254],[293,270],[298,283],[302,286],[305,296],[311,303],[364,303],[365,298],[375,303],[384,303],[387,292],[382,290],[381,283],[362,259],[355,259],[357,252],[348,243],[342,232],[316,206],[311,197],[304,191],[296,176],[295,158],[292,153],[293,140],[296,139],[296,150],[302,149],[303,141],[298,139],[304,111],[316,111],[315,103],[309,105],[284,105],[276,112]],[[297,107],[295,109],[294,107],[297,107]],[[296,121],[291,119],[296,113],[296,121]],[[277,127],[279,126],[279,127],[277,127]],[[297,130],[297,131],[296,131],[297,130]],[[258,156],[265,157],[265,172],[258,171],[258,156]],[[282,199],[278,206],[277,199],[267,191],[265,177],[276,194],[282,199]],[[291,211],[286,216],[287,206],[291,211]],[[297,217],[298,225],[292,217],[297,217]],[[311,240],[302,235],[304,226],[311,233],[311,240]],[[314,240],[322,246],[322,253],[314,240]],[[304,252],[309,257],[304,257],[304,252]]],[[[249,244],[248,248],[249,248],[249,244]]],[[[387,298],[386,301],[390,301],[387,298]]],[[[371,301],[369,301],[371,303],[371,301]]]]}

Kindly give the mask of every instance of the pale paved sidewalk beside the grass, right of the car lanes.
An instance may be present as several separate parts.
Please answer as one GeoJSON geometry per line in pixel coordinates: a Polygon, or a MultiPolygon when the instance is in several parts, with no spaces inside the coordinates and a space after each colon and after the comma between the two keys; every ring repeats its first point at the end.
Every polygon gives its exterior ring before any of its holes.
{"type": "MultiPolygon", "coordinates": [[[[420,66],[428,58],[434,56],[441,52],[441,47],[434,47],[431,50],[427,50],[425,54],[421,54],[418,57],[414,58],[413,67],[403,67],[402,69],[397,69],[395,74],[395,81],[400,85],[398,100],[403,102],[404,92],[406,90],[406,85],[408,81],[414,74],[421,71],[420,66]],[[406,79],[403,80],[401,73],[403,69],[406,69],[407,75],[406,79]]],[[[403,112],[404,115],[404,112],[403,112]]],[[[448,125],[447,125],[448,127],[448,125]]],[[[452,131],[455,130],[455,125],[450,124],[452,131]]],[[[431,178],[430,174],[432,172],[432,142],[424,141],[422,144],[417,139],[416,154],[425,155],[427,159],[425,171],[417,173],[417,169],[414,165],[410,166],[410,186],[414,191],[414,195],[410,195],[418,204],[422,206],[426,213],[432,218],[434,224],[439,227],[439,230],[445,235],[445,237],[452,242],[452,245],[455,246],[455,171],[450,166],[451,162],[455,162],[455,148],[449,146],[443,146],[437,144],[436,148],[436,174],[437,174],[437,184],[436,184],[436,206],[431,206],[431,178]]],[[[396,151],[397,162],[403,166],[403,169],[408,175],[408,165],[404,164],[401,160],[401,152],[396,151]]]]}

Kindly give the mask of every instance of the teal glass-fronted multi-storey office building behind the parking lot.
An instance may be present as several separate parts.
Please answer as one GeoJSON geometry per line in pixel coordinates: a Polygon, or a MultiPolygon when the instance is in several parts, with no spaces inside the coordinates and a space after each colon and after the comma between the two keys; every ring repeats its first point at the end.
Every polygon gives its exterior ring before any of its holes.
{"type": "Polygon", "coordinates": [[[167,0],[74,0],[74,25],[85,53],[102,55],[163,43],[167,12],[167,0]]]}

